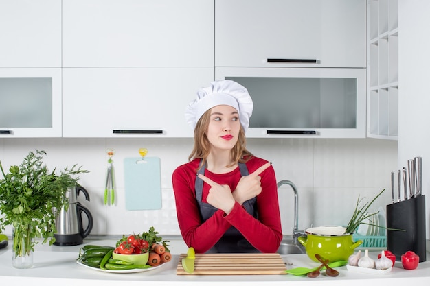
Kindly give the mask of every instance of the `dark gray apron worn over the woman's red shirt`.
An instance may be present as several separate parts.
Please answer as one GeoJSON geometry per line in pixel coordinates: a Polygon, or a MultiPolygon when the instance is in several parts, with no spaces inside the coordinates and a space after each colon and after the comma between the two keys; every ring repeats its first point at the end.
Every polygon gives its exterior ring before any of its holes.
{"type": "MultiPolygon", "coordinates": [[[[247,176],[248,168],[244,163],[239,163],[240,175],[247,176]]],[[[205,167],[202,167],[198,174],[205,174],[205,167]]],[[[199,203],[199,211],[201,215],[201,219],[205,222],[207,219],[212,217],[218,208],[214,208],[214,206],[208,204],[207,202],[202,202],[203,197],[203,180],[201,178],[196,177],[196,200],[199,203]]],[[[242,204],[247,213],[256,217],[258,219],[257,213],[257,197],[254,197],[250,200],[247,200],[242,204]]],[[[234,226],[231,226],[223,237],[206,253],[244,253],[244,252],[259,252],[256,248],[254,248],[251,243],[243,237],[243,235],[236,229],[234,226]]]]}

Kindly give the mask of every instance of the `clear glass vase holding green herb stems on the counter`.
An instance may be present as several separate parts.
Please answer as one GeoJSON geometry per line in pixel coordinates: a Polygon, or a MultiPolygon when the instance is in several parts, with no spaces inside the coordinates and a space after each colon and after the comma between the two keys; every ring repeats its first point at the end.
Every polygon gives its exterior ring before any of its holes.
{"type": "Polygon", "coordinates": [[[12,266],[15,268],[33,267],[31,224],[17,225],[12,233],[12,266]]]}

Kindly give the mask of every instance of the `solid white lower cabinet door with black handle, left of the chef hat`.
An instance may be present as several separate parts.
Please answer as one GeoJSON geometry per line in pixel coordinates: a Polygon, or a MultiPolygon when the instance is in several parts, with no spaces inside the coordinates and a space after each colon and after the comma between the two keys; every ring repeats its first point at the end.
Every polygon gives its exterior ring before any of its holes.
{"type": "Polygon", "coordinates": [[[65,68],[64,137],[192,137],[185,108],[213,68],[65,68]]]}

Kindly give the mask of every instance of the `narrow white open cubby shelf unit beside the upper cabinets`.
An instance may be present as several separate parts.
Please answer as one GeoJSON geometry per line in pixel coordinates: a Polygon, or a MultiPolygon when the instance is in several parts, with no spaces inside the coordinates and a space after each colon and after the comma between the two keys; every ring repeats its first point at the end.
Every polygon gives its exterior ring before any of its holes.
{"type": "Polygon", "coordinates": [[[398,136],[398,1],[369,0],[367,137],[398,136]]]}

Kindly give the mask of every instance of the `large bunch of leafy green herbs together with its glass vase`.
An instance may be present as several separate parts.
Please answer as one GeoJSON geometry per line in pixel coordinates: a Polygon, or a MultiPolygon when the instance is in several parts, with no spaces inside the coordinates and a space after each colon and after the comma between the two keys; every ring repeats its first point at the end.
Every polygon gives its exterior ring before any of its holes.
{"type": "Polygon", "coordinates": [[[67,189],[78,181],[76,175],[87,173],[82,166],[49,171],[43,164],[45,151],[29,152],[21,165],[12,165],[5,174],[0,161],[3,179],[0,180],[0,230],[12,225],[12,265],[32,267],[32,253],[36,238],[42,243],[55,242],[56,213],[53,209],[67,208],[67,189]]]}

